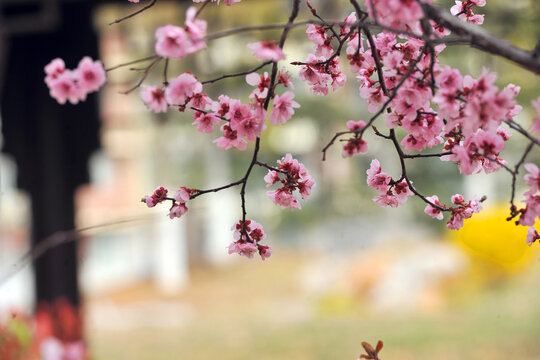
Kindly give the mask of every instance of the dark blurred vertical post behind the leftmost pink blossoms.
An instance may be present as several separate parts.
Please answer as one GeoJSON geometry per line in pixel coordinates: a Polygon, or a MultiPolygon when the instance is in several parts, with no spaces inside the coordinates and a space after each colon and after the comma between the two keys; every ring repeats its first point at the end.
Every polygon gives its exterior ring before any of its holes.
{"type": "MultiPolygon", "coordinates": [[[[31,12],[26,8],[30,6],[3,8],[3,16],[31,12]]],[[[98,147],[96,95],[75,106],[59,105],[43,81],[43,67],[55,57],[63,58],[68,68],[75,68],[83,56],[97,58],[92,1],[68,2],[59,10],[52,29],[8,34],[6,71],[0,82],[3,151],[15,157],[19,186],[31,196],[33,245],[74,227],[73,193],[87,182],[87,160],[98,147]]],[[[63,297],[79,304],[74,243],[47,251],[34,267],[38,301],[63,297]]]]}

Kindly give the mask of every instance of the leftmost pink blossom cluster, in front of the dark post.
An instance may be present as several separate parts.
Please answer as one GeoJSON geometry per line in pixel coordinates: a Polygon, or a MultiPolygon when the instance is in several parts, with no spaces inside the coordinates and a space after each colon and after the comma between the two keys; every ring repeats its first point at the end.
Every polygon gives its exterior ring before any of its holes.
{"type": "Polygon", "coordinates": [[[88,56],[82,58],[75,70],[66,69],[64,60],[56,58],[45,66],[45,74],[49,93],[60,104],[86,100],[86,95],[99,90],[106,80],[101,61],[92,61],[88,56]]]}

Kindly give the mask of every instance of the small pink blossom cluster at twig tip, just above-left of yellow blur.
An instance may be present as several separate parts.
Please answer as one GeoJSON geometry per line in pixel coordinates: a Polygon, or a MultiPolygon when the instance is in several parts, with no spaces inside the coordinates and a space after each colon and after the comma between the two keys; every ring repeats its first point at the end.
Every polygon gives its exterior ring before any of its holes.
{"type": "MultiPolygon", "coordinates": [[[[442,205],[436,195],[428,197],[427,199],[435,205],[446,208],[446,204],[442,205]]],[[[469,219],[474,213],[478,213],[482,210],[480,199],[478,198],[473,198],[466,203],[463,195],[455,194],[452,196],[451,200],[455,206],[448,208],[452,215],[450,216],[450,220],[446,223],[446,227],[451,230],[461,229],[463,227],[463,220],[469,219]]],[[[424,209],[424,212],[435,219],[443,219],[442,211],[429,204],[424,209]]]]}

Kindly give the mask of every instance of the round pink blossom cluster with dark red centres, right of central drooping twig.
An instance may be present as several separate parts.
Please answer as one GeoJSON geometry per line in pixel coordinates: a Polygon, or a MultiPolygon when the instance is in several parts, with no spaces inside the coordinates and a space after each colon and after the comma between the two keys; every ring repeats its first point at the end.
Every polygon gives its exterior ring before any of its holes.
{"type": "Polygon", "coordinates": [[[264,177],[264,181],[267,187],[275,183],[281,183],[282,187],[277,190],[268,191],[266,195],[268,195],[274,204],[279,205],[282,209],[287,207],[292,210],[301,209],[302,206],[294,197],[293,192],[298,190],[302,200],[306,200],[311,195],[311,189],[315,186],[315,181],[309,175],[304,164],[293,159],[291,154],[286,154],[277,163],[279,165],[278,168],[276,170],[269,170],[268,174],[264,177]],[[283,178],[280,175],[283,175],[283,178]]]}

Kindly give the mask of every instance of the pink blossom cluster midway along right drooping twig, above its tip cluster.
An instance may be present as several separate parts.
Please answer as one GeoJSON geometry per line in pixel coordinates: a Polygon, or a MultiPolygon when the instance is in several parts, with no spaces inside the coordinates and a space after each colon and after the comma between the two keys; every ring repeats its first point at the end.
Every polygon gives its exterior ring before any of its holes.
{"type": "Polygon", "coordinates": [[[393,180],[390,175],[382,172],[379,160],[373,159],[367,173],[367,183],[379,192],[373,201],[385,207],[398,207],[403,205],[407,198],[413,195],[405,179],[393,180]]]}

